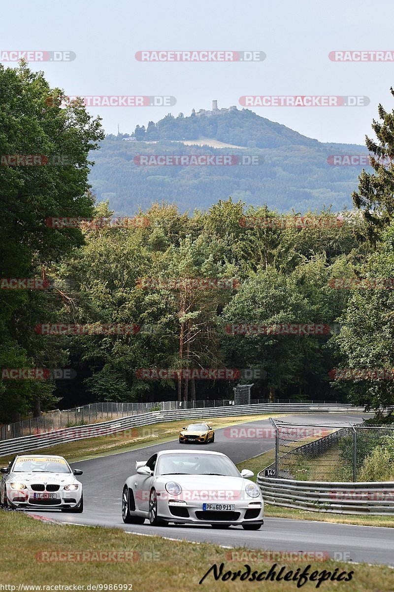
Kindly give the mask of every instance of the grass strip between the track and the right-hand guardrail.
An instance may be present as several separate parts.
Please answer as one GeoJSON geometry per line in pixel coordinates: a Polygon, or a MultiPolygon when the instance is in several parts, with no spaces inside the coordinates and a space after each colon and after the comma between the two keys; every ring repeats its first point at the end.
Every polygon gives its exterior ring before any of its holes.
{"type": "MultiPolygon", "coordinates": [[[[269,450],[254,458],[249,458],[248,461],[239,462],[237,468],[250,469],[255,473],[251,481],[256,482],[256,477],[259,471],[265,466],[271,465],[275,460],[275,451],[269,450]]],[[[279,506],[272,506],[271,504],[264,504],[264,515],[275,518],[291,518],[294,520],[313,520],[314,522],[332,522],[336,524],[354,524],[359,526],[387,526],[394,528],[394,516],[353,516],[351,514],[330,514],[325,512],[311,512],[308,510],[295,510],[293,508],[282,508],[279,506]]]]}

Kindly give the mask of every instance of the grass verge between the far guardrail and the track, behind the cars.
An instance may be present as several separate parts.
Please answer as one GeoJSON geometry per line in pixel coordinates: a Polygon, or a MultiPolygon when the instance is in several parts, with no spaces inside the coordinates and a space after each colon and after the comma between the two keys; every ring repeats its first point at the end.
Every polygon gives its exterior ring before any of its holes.
{"type": "MultiPolygon", "coordinates": [[[[209,424],[214,429],[234,426],[239,423],[258,422],[269,417],[282,417],[283,414],[261,414],[261,415],[243,415],[232,417],[213,417],[209,424]]],[[[193,423],[204,421],[204,418],[193,419],[193,423]]],[[[205,420],[206,421],[206,420],[205,420]]],[[[180,430],[185,424],[190,423],[185,419],[175,422],[155,423],[151,426],[131,427],[123,432],[108,434],[106,436],[97,436],[85,438],[51,446],[50,448],[40,449],[40,454],[58,454],[64,456],[69,462],[80,461],[86,458],[95,458],[96,456],[105,456],[116,452],[128,452],[136,448],[142,448],[150,444],[160,444],[170,442],[178,437],[180,430]],[[185,423],[186,422],[186,423],[185,423]]],[[[78,428],[76,428],[78,429],[78,428]]],[[[5,465],[14,458],[14,455],[0,457],[0,464],[5,465]]]]}

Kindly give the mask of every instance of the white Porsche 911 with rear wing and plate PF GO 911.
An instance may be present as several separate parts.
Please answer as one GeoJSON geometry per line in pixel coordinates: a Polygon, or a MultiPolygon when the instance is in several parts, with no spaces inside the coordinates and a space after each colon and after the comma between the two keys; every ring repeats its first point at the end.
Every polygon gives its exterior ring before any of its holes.
{"type": "Polygon", "coordinates": [[[252,471],[239,472],[222,452],[158,452],[136,462],[136,474],[126,480],[123,522],[143,524],[148,519],[153,526],[175,522],[258,530],[264,502],[248,477],[252,471]]]}

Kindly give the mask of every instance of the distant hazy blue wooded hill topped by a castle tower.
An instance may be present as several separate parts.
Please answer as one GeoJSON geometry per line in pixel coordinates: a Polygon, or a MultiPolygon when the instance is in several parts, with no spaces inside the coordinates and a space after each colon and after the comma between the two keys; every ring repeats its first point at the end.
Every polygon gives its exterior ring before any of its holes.
{"type": "Polygon", "coordinates": [[[220,115],[167,115],[149,122],[146,129],[137,126],[131,136],[106,136],[92,154],[96,164],[90,182],[100,201],[109,200],[115,215],[133,215],[138,206],[145,209],[162,200],[177,202],[180,211],[206,210],[229,195],[278,211],[304,212],[330,204],[342,210],[351,207],[362,166],[333,166],[329,157],[348,154],[367,154],[367,149],[320,143],[246,109],[220,115]],[[243,148],[190,145],[193,140],[201,144],[204,138],[213,145],[219,141],[243,148]],[[145,166],[138,164],[138,155],[246,155],[258,157],[259,164],[145,166]]]}

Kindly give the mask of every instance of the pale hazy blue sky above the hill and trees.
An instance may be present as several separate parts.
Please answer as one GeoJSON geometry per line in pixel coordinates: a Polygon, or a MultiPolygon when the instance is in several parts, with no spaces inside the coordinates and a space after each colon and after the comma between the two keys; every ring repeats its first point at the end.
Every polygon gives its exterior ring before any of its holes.
{"type": "MultiPolygon", "coordinates": [[[[171,95],[174,107],[89,108],[107,133],[168,112],[239,105],[242,95],[360,95],[367,107],[254,107],[321,141],[364,143],[377,104],[394,107],[394,62],[333,62],[333,50],[391,50],[389,5],[369,0],[19,0],[2,4],[7,50],[69,50],[72,62],[30,62],[69,95],[171,95]],[[255,50],[261,62],[139,62],[140,50],[255,50]]],[[[3,65],[7,65],[2,61],[3,65]]],[[[8,63],[15,66],[15,63],[8,63]]]]}

